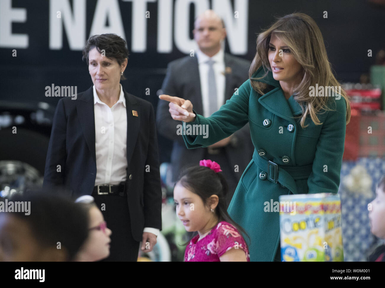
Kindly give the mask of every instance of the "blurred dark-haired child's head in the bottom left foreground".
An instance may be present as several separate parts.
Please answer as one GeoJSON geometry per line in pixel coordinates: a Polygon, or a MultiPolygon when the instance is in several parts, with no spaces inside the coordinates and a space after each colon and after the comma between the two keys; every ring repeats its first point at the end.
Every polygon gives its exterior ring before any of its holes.
{"type": "Polygon", "coordinates": [[[89,234],[84,209],[46,191],[15,194],[8,201],[30,203],[30,210],[0,212],[0,262],[75,260],[89,234]]]}

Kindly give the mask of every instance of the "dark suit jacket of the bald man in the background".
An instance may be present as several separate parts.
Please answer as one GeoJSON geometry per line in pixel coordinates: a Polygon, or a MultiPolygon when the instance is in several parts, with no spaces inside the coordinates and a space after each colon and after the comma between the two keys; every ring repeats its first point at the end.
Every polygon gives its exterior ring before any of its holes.
{"type": "MultiPolygon", "coordinates": [[[[225,73],[225,101],[248,80],[250,62],[228,53],[224,54],[225,73]]],[[[201,82],[197,57],[186,56],[174,60],[167,66],[167,74],[163,81],[162,93],[190,100],[194,111],[203,114],[201,82]]],[[[224,104],[224,103],[223,103],[224,104]]],[[[186,165],[199,165],[203,159],[204,149],[187,149],[181,135],[177,135],[177,125],[181,121],[172,119],[169,113],[169,102],[160,100],[157,107],[157,129],[159,134],[174,141],[171,152],[172,180],[176,178],[181,169],[186,165]]],[[[251,142],[249,124],[234,133],[236,143],[226,146],[226,155],[230,164],[238,165],[239,172],[234,172],[239,179],[253,156],[254,146],[251,142]]]]}

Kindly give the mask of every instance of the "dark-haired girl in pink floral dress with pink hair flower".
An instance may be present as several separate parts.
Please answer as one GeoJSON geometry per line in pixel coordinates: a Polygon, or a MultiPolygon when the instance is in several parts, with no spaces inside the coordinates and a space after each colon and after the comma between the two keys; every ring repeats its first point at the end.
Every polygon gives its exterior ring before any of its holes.
{"type": "Polygon", "coordinates": [[[211,160],[199,165],[182,172],[174,188],[177,216],[186,231],[198,231],[184,261],[250,261],[241,233],[247,234],[227,213],[228,185],[221,167],[211,160]]]}

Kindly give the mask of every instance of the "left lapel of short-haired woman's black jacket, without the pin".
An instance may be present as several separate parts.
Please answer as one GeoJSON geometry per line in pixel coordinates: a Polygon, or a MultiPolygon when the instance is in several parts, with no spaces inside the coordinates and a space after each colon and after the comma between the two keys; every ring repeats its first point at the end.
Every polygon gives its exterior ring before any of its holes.
{"type": "Polygon", "coordinates": [[[95,114],[94,114],[94,92],[93,88],[86,90],[82,97],[76,101],[76,110],[79,117],[80,126],[84,134],[85,142],[94,159],[96,165],[95,152],[95,114]]]}

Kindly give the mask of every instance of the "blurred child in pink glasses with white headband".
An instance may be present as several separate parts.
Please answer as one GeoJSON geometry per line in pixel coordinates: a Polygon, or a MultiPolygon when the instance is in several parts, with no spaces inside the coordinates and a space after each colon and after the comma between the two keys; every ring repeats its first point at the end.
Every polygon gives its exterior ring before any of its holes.
{"type": "Polygon", "coordinates": [[[76,261],[99,261],[110,255],[111,230],[107,228],[103,214],[97,208],[94,198],[84,195],[75,203],[82,206],[89,217],[89,234],[77,254],[76,261]]]}

